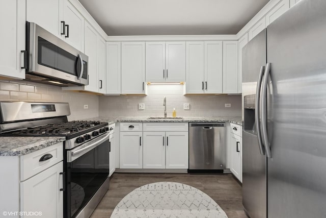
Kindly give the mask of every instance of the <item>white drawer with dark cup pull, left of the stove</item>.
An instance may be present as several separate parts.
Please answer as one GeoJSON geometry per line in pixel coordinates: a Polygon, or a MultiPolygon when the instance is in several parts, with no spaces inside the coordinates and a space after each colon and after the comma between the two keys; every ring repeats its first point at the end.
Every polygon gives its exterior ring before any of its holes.
{"type": "Polygon", "coordinates": [[[63,142],[30,154],[23,155],[20,157],[20,181],[24,181],[62,160],[63,142]],[[47,160],[40,161],[40,159],[47,154],[52,155],[52,157],[47,160]]]}

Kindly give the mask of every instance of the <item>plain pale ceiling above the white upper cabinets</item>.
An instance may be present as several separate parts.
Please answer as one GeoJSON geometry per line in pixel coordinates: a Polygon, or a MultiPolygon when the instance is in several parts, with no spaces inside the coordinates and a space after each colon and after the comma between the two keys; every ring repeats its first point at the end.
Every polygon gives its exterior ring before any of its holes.
{"type": "Polygon", "coordinates": [[[236,34],[269,0],[79,0],[109,36],[236,34]]]}

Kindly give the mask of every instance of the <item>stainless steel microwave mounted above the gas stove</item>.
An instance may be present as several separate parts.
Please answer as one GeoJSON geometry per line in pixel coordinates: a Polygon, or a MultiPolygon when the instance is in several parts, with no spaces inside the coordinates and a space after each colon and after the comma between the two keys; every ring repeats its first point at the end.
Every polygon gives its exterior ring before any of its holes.
{"type": "Polygon", "coordinates": [[[88,56],[33,22],[26,22],[26,51],[26,80],[88,85],[88,56]]]}

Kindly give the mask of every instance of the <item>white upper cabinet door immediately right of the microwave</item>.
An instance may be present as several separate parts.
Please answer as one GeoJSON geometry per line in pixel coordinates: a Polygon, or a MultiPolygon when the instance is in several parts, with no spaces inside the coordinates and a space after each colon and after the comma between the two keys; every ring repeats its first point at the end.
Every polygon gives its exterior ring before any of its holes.
{"type": "Polygon", "coordinates": [[[98,91],[96,38],[96,31],[85,22],[85,54],[88,56],[88,85],[85,90],[93,92],[98,91]]]}

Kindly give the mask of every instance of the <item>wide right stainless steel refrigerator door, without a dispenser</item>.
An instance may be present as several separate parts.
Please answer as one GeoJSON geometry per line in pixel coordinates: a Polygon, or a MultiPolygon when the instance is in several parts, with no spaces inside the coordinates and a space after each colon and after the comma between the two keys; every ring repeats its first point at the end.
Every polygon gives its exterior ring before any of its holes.
{"type": "Polygon", "coordinates": [[[326,217],[326,1],[267,28],[268,218],[326,217]]]}

